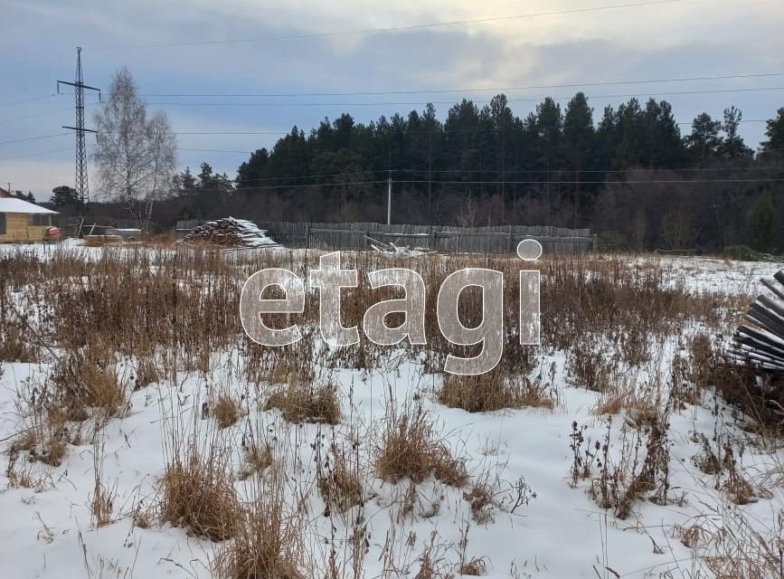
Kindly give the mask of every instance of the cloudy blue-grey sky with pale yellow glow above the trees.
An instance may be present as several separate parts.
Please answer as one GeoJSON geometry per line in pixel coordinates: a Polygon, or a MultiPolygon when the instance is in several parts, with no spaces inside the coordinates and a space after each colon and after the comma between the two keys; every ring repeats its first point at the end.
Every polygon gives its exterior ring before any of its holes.
{"type": "MultiPolygon", "coordinates": [[[[495,92],[302,93],[577,84],[594,119],[607,104],[654,94],[673,104],[684,133],[697,113],[721,118],[734,104],[747,120],[742,136],[758,147],[759,121],[784,106],[784,2],[628,5],[640,1],[648,0],[0,0],[0,186],[11,182],[45,200],[53,186],[73,185],[73,135],[37,137],[74,123],[72,93],[54,93],[58,79],[73,81],[77,45],[87,84],[106,88],[114,71],[128,66],[150,108],[172,120],[182,167],[206,160],[230,176],[248,152],[271,147],[295,124],[307,132],[344,111],[366,123],[429,100],[443,119],[450,103],[465,96],[483,104],[495,92]],[[417,26],[479,19],[486,22],[417,26]],[[397,30],[324,34],[378,28],[397,30]],[[235,42],[247,39],[254,40],[235,42]],[[770,76],[590,86],[750,74],[770,76]],[[713,92],[674,94],[696,90],[713,92]],[[193,96],[270,93],[285,96],[193,96]],[[185,134],[199,132],[269,134],[185,134]],[[6,143],[17,139],[29,140],[6,143]]],[[[551,95],[565,104],[576,90],[503,91],[522,118],[537,100],[551,95]]],[[[91,94],[87,101],[90,127],[97,105],[91,94]]],[[[90,189],[98,189],[92,178],[90,189]]]]}

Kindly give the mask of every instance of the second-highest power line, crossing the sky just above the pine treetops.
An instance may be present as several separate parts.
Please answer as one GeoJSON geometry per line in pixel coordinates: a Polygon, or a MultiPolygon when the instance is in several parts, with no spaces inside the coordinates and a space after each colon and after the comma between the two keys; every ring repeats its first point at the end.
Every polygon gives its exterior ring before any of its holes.
{"type": "Polygon", "coordinates": [[[503,92],[505,90],[544,90],[544,89],[573,89],[581,87],[618,86],[624,84],[656,84],[663,82],[690,82],[690,81],[730,81],[738,79],[760,79],[784,76],[784,72],[760,72],[753,74],[725,74],[716,76],[675,77],[669,79],[640,79],[636,81],[588,81],[572,82],[568,84],[540,84],[524,87],[496,87],[473,89],[431,89],[431,90],[377,90],[359,92],[261,92],[261,93],[187,93],[187,92],[149,92],[141,96],[154,98],[172,97],[225,97],[225,98],[296,98],[296,97],[379,97],[403,94],[445,94],[449,92],[503,92]]]}

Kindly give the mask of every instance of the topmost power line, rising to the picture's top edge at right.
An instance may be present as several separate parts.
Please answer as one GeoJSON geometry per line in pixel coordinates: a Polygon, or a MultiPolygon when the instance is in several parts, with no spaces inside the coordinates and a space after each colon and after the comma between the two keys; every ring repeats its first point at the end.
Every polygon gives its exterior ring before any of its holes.
{"type": "Polygon", "coordinates": [[[346,34],[373,34],[373,33],[390,33],[390,32],[403,32],[407,30],[420,30],[425,28],[445,28],[449,26],[462,26],[465,24],[486,24],[492,22],[502,22],[510,20],[523,20],[526,18],[541,18],[543,16],[557,16],[563,14],[585,14],[591,12],[604,12],[608,10],[618,10],[622,8],[636,8],[639,6],[651,5],[667,5],[667,4],[680,4],[683,2],[692,2],[693,0],[643,0],[641,2],[628,2],[625,4],[617,5],[599,5],[587,6],[583,8],[567,8],[563,10],[552,10],[548,12],[536,12],[529,14],[514,14],[505,16],[490,16],[486,18],[472,18],[466,20],[452,20],[447,22],[435,22],[424,24],[404,24],[400,26],[387,26],[384,28],[358,28],[354,30],[338,30],[325,33],[299,33],[299,34],[279,34],[274,36],[260,36],[251,38],[225,38],[222,40],[205,40],[205,41],[184,41],[178,43],[149,43],[149,44],[130,44],[130,45],[115,45],[115,46],[98,46],[93,47],[92,50],[128,50],[140,48],[170,48],[175,46],[200,46],[200,45],[213,45],[213,44],[229,44],[229,43],[267,43],[286,40],[305,40],[313,38],[327,38],[331,36],[343,36],[346,34]]]}

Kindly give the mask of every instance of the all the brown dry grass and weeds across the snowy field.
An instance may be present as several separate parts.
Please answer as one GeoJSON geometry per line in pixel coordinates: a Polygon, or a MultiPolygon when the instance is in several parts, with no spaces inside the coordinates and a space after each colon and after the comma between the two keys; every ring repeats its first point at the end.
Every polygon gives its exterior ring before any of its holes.
{"type": "MultiPolygon", "coordinates": [[[[246,361],[241,370],[243,378],[251,384],[288,384],[288,388],[269,397],[266,408],[278,408],[288,422],[328,424],[341,420],[338,394],[332,385],[314,385],[315,367],[368,369],[387,363],[389,350],[369,344],[364,337],[362,344],[338,354],[327,356],[317,351],[313,336],[318,309],[309,295],[306,313],[299,322],[306,339],[297,347],[271,351],[250,344],[242,336],[236,314],[238,280],[246,279],[252,271],[280,265],[301,272],[312,261],[304,266],[285,262],[291,258],[284,252],[249,252],[227,258],[218,252],[193,249],[161,251],[156,247],[158,241],[168,240],[151,240],[152,249],[147,247],[145,251],[128,247],[122,255],[107,248],[95,262],[68,252],[57,252],[48,261],[32,253],[0,259],[0,318],[7,320],[0,327],[0,360],[54,362],[40,337],[48,337],[48,345],[65,352],[33,404],[46,423],[39,423],[34,431],[14,442],[17,453],[27,452],[28,458],[47,465],[61,465],[68,444],[78,440],[75,421],[96,415],[121,417],[128,407],[128,392],[115,379],[113,366],[123,358],[138,361],[139,388],[154,382],[174,383],[177,371],[183,367],[206,376],[214,370],[215,355],[235,348],[239,337],[246,361]],[[19,311],[12,311],[10,304],[16,304],[19,311]]],[[[356,261],[361,280],[366,271],[389,265],[383,257],[373,255],[348,259],[356,261]]],[[[434,317],[434,300],[448,271],[480,266],[503,271],[505,279],[513,280],[520,268],[519,260],[501,257],[459,256],[449,261],[437,257],[416,264],[395,259],[398,267],[420,271],[428,296],[429,344],[408,348],[405,356],[423,354],[426,365],[437,372],[442,370],[446,354],[454,353],[439,337],[434,317]]],[[[352,265],[347,262],[345,267],[352,265]]],[[[590,441],[578,443],[580,433],[572,432],[575,456],[580,459],[575,461],[574,484],[590,479],[591,492],[601,506],[627,517],[638,500],[667,501],[666,416],[650,396],[627,390],[627,384],[619,380],[629,366],[650,362],[657,339],[683,335],[685,327],[693,325],[707,328],[686,343],[687,354],[678,368],[678,380],[682,378],[684,384],[694,386],[688,393],[684,390],[683,401],[698,402],[694,393],[715,383],[726,400],[758,423],[766,428],[780,427],[784,415],[784,389],[780,384],[755,384],[751,373],[727,365],[711,347],[714,329],[726,332],[734,323],[727,312],[743,307],[735,298],[663,289],[672,286],[664,283],[666,274],[661,268],[630,268],[625,258],[553,257],[543,260],[541,267],[542,294],[547,296],[543,300],[543,344],[566,353],[573,381],[601,393],[597,413],[625,410],[625,418],[632,425],[631,433],[624,435],[628,439],[621,441],[619,458],[603,452],[610,446],[609,439],[604,444],[595,442],[597,446],[590,441]]],[[[505,284],[505,303],[515,303],[514,285],[505,284]]],[[[346,293],[342,314],[348,325],[361,322],[364,310],[377,299],[395,297],[382,296],[366,283],[346,293]]],[[[477,305],[474,295],[459,304],[460,318],[469,326],[477,321],[477,305]]],[[[506,308],[506,347],[515,341],[508,332],[516,326],[516,316],[515,308],[506,308]]],[[[510,348],[505,350],[504,364],[492,373],[477,377],[446,375],[439,401],[468,412],[522,406],[553,408],[556,394],[541,380],[524,378],[530,375],[534,356],[541,353],[526,347],[519,352],[515,349],[513,354],[510,348]]],[[[219,395],[211,401],[209,413],[215,424],[227,428],[240,418],[240,404],[228,394],[219,395]]],[[[182,432],[173,433],[173,437],[174,450],[166,460],[156,516],[213,540],[233,536],[216,561],[216,573],[221,577],[306,576],[303,523],[299,513],[289,512],[293,510],[288,508],[294,502],[292,498],[284,498],[280,489],[260,488],[247,505],[241,505],[228,464],[231,451],[218,447],[200,451],[193,442],[186,443],[182,432]]],[[[435,476],[456,487],[467,484],[464,461],[453,455],[430,415],[420,408],[399,415],[391,413],[373,451],[373,467],[384,480],[408,478],[419,483],[435,476]]],[[[704,471],[717,477],[717,485],[733,502],[753,500],[751,484],[740,476],[740,470],[716,456],[726,453],[710,452],[704,457],[704,471]]],[[[343,510],[360,505],[365,497],[358,461],[351,452],[332,454],[315,489],[328,508],[343,510]]],[[[241,478],[250,479],[244,486],[260,485],[262,481],[268,484],[268,479],[277,479],[286,470],[273,461],[266,443],[243,445],[242,457],[245,464],[241,478]],[[263,477],[250,477],[260,472],[264,472],[263,477]]],[[[22,487],[37,489],[42,484],[32,470],[14,470],[13,477],[14,484],[22,487]]],[[[96,521],[110,520],[110,495],[111,490],[97,479],[93,495],[96,521]]],[[[492,489],[481,485],[466,490],[463,497],[475,521],[487,520],[493,495],[492,489]]],[[[134,517],[137,524],[148,526],[153,520],[151,512],[139,511],[134,517]]],[[[719,576],[763,576],[755,572],[751,560],[766,571],[774,569],[777,549],[770,537],[761,541],[750,531],[721,537],[716,532],[694,533],[685,532],[685,543],[713,541],[717,555],[710,566],[719,576]],[[735,565],[733,559],[739,563],[735,565]]],[[[461,561],[460,573],[486,571],[483,559],[466,560],[461,556],[461,561]]],[[[440,571],[433,559],[422,559],[418,576],[428,579],[440,571]]]]}

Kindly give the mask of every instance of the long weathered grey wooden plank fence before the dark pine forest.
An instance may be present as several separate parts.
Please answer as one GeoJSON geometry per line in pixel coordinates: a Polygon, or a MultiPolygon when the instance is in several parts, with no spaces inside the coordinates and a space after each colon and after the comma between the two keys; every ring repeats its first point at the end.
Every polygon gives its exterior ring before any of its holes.
{"type": "Polygon", "coordinates": [[[517,243],[534,238],[546,253],[574,253],[596,249],[590,229],[547,225],[452,227],[383,223],[260,222],[276,242],[288,247],[329,250],[371,249],[373,240],[442,253],[514,253],[517,243]]]}

